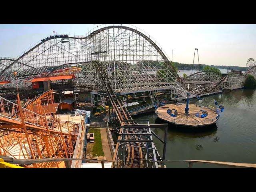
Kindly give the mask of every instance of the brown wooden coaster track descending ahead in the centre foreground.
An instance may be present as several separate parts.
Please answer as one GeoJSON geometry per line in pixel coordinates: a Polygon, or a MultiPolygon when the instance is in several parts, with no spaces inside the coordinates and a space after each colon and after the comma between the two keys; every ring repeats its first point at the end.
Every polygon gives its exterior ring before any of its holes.
{"type": "MultiPolygon", "coordinates": [[[[110,100],[114,111],[118,117],[121,124],[119,131],[119,136],[116,144],[116,150],[114,154],[114,160],[118,158],[118,153],[121,153],[123,157],[123,168],[144,168],[148,167],[148,163],[145,161],[148,157],[153,157],[156,161],[155,146],[152,139],[152,134],[150,132],[150,126],[142,125],[135,122],[124,103],[112,90],[110,80],[103,62],[92,61],[104,88],[106,90],[106,97],[110,100]],[[122,148],[122,150],[119,150],[122,148]],[[151,149],[152,153],[147,154],[146,148],[151,149]]],[[[160,155],[158,154],[160,157],[160,155]]],[[[154,162],[154,167],[158,167],[158,163],[154,162]]],[[[119,167],[119,166],[115,166],[119,167]]]]}

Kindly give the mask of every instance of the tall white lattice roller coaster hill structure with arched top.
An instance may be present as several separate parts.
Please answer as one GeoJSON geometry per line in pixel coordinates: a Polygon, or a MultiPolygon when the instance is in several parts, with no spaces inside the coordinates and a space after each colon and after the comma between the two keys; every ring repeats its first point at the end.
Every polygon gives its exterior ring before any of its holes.
{"type": "Polygon", "coordinates": [[[105,64],[113,90],[120,93],[167,89],[178,76],[148,34],[134,26],[104,25],[86,36],[50,36],[15,59],[2,58],[0,81],[11,81],[8,87],[15,87],[13,72],[17,71],[18,86],[26,87],[36,76],[55,75],[56,70],[74,66],[81,69],[66,74],[76,75],[77,87],[102,90],[92,60],[105,64]]]}

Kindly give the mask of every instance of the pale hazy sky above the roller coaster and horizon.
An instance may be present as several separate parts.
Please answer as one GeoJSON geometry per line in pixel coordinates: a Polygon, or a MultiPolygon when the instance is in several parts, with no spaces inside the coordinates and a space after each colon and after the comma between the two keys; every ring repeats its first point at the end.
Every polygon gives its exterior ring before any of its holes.
{"type": "MultiPolygon", "coordinates": [[[[99,25],[99,24],[95,24],[99,25]]],[[[84,36],[93,24],[0,24],[0,57],[24,53],[48,35],[84,36]]],[[[256,58],[255,24],[134,24],[153,37],[174,62],[193,63],[194,49],[208,65],[246,66],[256,58]]],[[[195,62],[198,63],[197,57],[195,62]]]]}

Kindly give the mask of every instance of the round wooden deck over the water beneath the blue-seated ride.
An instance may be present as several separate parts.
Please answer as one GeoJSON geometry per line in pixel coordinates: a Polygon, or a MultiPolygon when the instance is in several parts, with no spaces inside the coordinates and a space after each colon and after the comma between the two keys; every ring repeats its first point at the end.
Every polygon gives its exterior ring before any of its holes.
{"type": "Polygon", "coordinates": [[[183,125],[183,126],[205,126],[214,124],[216,120],[218,120],[219,116],[215,112],[214,107],[212,109],[204,106],[198,106],[196,104],[189,104],[189,113],[185,114],[185,108],[186,104],[167,104],[162,107],[158,107],[156,110],[156,114],[158,117],[162,120],[165,120],[167,122],[177,124],[177,125],[183,125]],[[174,113],[173,109],[176,109],[178,112],[177,117],[172,117],[167,113],[167,110],[172,110],[172,113],[174,113]],[[205,118],[196,117],[195,114],[197,112],[202,114],[202,110],[206,110],[208,112],[208,116],[205,118]]]}

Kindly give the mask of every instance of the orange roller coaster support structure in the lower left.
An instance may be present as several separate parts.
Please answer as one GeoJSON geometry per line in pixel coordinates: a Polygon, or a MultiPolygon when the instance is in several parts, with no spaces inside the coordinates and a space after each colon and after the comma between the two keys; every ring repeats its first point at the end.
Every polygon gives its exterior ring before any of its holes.
{"type": "MultiPolygon", "coordinates": [[[[79,126],[60,121],[54,107],[52,90],[24,107],[19,95],[16,103],[0,97],[0,155],[14,159],[73,158],[79,126]]],[[[65,164],[46,162],[22,166],[61,168],[65,164]]]]}

